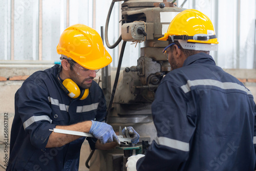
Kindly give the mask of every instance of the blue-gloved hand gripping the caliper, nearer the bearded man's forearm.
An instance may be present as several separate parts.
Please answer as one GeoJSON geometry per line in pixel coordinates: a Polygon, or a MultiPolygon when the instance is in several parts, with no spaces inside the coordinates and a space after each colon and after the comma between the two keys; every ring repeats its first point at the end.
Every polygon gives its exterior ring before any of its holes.
{"type": "Polygon", "coordinates": [[[112,142],[113,140],[120,144],[120,140],[117,138],[113,127],[107,123],[92,120],[92,126],[89,133],[97,138],[102,144],[112,142]]]}

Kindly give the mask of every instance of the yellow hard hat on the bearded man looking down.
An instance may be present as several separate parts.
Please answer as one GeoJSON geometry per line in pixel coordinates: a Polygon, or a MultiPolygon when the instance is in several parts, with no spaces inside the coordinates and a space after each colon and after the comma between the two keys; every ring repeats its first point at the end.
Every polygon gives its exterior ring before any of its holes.
{"type": "Polygon", "coordinates": [[[98,32],[82,24],[70,26],[63,31],[57,53],[72,58],[89,70],[101,69],[112,62],[98,32]]]}

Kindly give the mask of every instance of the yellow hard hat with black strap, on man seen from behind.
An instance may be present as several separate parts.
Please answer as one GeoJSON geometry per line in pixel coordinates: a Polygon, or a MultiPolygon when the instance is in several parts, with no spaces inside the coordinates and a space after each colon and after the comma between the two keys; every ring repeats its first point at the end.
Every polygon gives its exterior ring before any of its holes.
{"type": "Polygon", "coordinates": [[[218,44],[214,26],[202,12],[188,9],[177,14],[170,22],[167,33],[158,40],[186,40],[202,44],[218,44]]]}

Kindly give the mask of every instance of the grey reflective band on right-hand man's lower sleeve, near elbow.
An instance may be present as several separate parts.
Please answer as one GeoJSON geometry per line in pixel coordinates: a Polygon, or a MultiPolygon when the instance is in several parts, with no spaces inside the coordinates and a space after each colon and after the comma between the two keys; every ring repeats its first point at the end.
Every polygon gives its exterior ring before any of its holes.
{"type": "Polygon", "coordinates": [[[182,142],[179,140],[174,140],[166,137],[158,137],[156,143],[159,145],[168,146],[171,148],[179,149],[184,152],[189,152],[189,143],[182,142]]]}

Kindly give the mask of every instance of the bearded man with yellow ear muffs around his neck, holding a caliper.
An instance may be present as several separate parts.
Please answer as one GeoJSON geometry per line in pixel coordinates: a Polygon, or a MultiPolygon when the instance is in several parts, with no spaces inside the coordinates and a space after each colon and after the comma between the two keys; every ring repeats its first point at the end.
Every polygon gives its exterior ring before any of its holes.
{"type": "MultiPolygon", "coordinates": [[[[37,71],[15,94],[7,170],[78,170],[86,137],[59,134],[61,129],[91,133],[92,149],[110,149],[120,143],[111,125],[102,122],[106,103],[93,81],[96,72],[112,61],[100,35],[77,24],[60,36],[61,65],[37,71]]],[[[129,127],[132,142],[139,135],[129,127]]]]}

